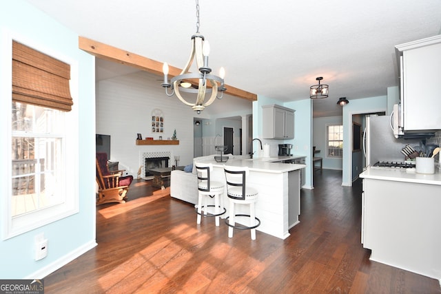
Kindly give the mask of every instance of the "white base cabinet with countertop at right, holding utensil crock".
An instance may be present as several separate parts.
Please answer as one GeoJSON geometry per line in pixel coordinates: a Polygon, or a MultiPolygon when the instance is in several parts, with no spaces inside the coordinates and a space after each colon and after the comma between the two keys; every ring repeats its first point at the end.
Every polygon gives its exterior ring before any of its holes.
{"type": "Polygon", "coordinates": [[[368,167],[360,178],[370,259],[441,280],[441,174],[368,167]]]}

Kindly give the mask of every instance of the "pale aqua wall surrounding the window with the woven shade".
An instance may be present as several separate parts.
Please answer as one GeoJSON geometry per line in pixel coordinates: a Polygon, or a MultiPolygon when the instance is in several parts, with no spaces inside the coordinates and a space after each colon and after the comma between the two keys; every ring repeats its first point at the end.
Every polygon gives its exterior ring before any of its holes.
{"type": "MultiPolygon", "coordinates": [[[[32,43],[38,43],[48,50],[59,52],[78,62],[78,89],[73,89],[74,107],[79,117],[79,167],[76,175],[79,180],[79,213],[57,222],[23,233],[17,237],[0,240],[0,278],[22,279],[42,278],[63,266],[77,255],[95,246],[95,96],[94,96],[94,57],[79,50],[78,35],[63,27],[29,3],[2,1],[0,8],[0,34],[2,40],[11,34],[32,43]],[[44,233],[48,239],[48,256],[34,261],[34,236],[44,233]]],[[[4,65],[2,65],[4,66],[4,65]]],[[[0,76],[5,80],[5,76],[0,76]]],[[[2,109],[10,109],[10,97],[0,99],[2,109]]],[[[10,111],[10,110],[9,110],[10,111]]],[[[1,132],[1,140],[8,141],[6,132],[1,132]]],[[[4,148],[4,147],[3,147],[4,148]]],[[[9,150],[10,146],[4,149],[9,150]]],[[[0,162],[6,163],[6,151],[1,151],[0,162]]],[[[1,186],[7,187],[8,179],[4,169],[0,171],[1,186]]],[[[6,203],[10,191],[0,193],[0,203],[6,203]]],[[[0,219],[3,222],[3,219],[0,219]]],[[[6,224],[1,223],[4,230],[6,224]]],[[[1,232],[3,235],[3,231],[1,232]]]]}

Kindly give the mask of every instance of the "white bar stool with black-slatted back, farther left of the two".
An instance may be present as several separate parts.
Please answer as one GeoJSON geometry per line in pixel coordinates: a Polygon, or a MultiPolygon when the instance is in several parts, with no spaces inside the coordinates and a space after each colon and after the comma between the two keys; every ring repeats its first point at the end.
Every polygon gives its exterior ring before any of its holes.
{"type": "Polygon", "coordinates": [[[195,167],[198,174],[198,207],[196,207],[198,217],[196,223],[201,224],[201,216],[204,213],[204,216],[215,217],[216,227],[219,227],[219,216],[222,216],[227,211],[223,207],[223,200],[220,197],[223,194],[225,185],[223,185],[223,182],[211,180],[210,172],[213,171],[211,163],[196,162],[195,167]],[[214,205],[207,205],[207,196],[214,198],[214,205]],[[204,205],[202,205],[202,202],[204,202],[204,205]],[[214,213],[208,213],[208,207],[214,207],[214,213]]]}

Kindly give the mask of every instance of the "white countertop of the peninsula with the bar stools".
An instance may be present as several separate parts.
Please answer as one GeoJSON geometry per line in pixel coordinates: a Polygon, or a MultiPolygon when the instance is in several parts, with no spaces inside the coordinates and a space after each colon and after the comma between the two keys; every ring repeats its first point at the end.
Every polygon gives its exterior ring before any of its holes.
{"type": "Polygon", "coordinates": [[[285,173],[287,171],[295,171],[297,169],[304,169],[306,165],[298,165],[292,163],[282,163],[278,161],[304,158],[305,156],[277,156],[270,158],[232,158],[229,156],[227,162],[216,162],[214,159],[201,159],[201,162],[212,163],[214,167],[223,167],[224,165],[234,167],[248,167],[250,171],[261,171],[267,173],[285,173]]]}

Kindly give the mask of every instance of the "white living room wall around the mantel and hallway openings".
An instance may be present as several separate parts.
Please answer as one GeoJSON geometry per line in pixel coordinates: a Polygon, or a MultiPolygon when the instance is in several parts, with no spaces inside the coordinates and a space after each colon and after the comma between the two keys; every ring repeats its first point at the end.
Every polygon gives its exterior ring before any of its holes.
{"type": "MultiPolygon", "coordinates": [[[[119,167],[126,169],[133,176],[136,176],[142,164],[140,160],[143,152],[170,151],[172,159],[179,156],[179,165],[192,163],[195,142],[194,118],[202,122],[198,127],[203,128],[203,138],[197,138],[196,142],[203,145],[201,151],[203,155],[207,155],[216,153],[212,147],[216,129],[233,124],[235,136],[239,136],[240,122],[213,118],[212,112],[216,108],[225,109],[228,108],[226,105],[229,105],[230,109],[234,109],[232,112],[225,112],[225,117],[252,112],[251,103],[246,103],[240,98],[224,96],[223,99],[216,99],[198,115],[192,107],[184,105],[176,96],[166,96],[161,81],[158,81],[160,78],[147,72],[135,72],[96,83],[96,134],[111,136],[111,160],[118,161],[119,167]],[[162,134],[152,133],[150,127],[154,109],[161,109],[164,115],[162,134]],[[153,137],[157,140],[158,136],[163,136],[163,139],[171,138],[175,129],[179,145],[135,145],[137,133],[141,133],[143,138],[153,137]]],[[[234,150],[236,152],[236,147],[234,150]]],[[[173,163],[170,161],[169,165],[173,163]]]]}

